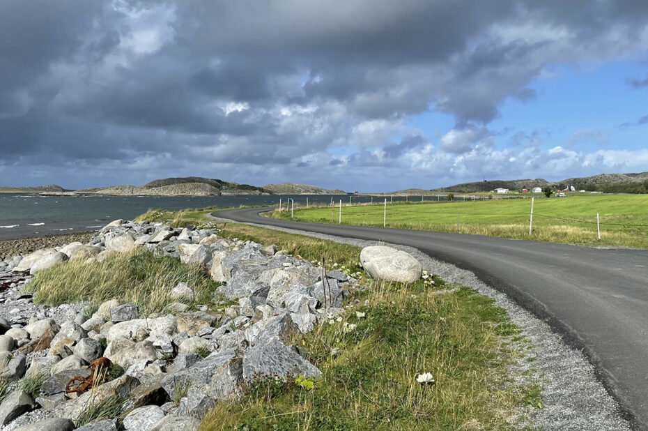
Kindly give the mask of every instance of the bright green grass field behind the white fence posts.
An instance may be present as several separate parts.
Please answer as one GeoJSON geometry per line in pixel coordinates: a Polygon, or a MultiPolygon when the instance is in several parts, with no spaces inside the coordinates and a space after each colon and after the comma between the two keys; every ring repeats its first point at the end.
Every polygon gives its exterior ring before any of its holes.
{"type": "MultiPolygon", "coordinates": [[[[389,204],[387,227],[459,232],[504,238],[533,239],[580,245],[648,248],[648,195],[589,195],[534,199],[533,230],[529,235],[531,199],[408,202],[389,204]],[[596,231],[599,213],[601,239],[596,231]],[[458,222],[458,229],[457,229],[458,222]]],[[[337,223],[339,207],[274,211],[270,217],[337,223]]],[[[342,203],[345,225],[383,226],[383,204],[342,203]]]]}

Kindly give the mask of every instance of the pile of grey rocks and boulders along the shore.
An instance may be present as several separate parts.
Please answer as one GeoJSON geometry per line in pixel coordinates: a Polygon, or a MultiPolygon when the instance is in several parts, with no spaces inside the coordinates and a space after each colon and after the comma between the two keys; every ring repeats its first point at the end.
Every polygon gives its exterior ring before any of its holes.
{"type": "MultiPolygon", "coordinates": [[[[274,245],[224,239],[210,229],[174,229],[160,223],[116,220],[88,243],[38,250],[0,263],[0,275],[25,275],[0,292],[0,377],[14,383],[0,403],[5,430],[71,430],[88,405],[114,396],[128,398],[126,430],[192,430],[215,402],[242,393],[245,382],[265,377],[320,377],[321,371],[284,344],[306,333],[339,307],[356,280],[341,271],[326,274],[274,245]],[[222,282],[229,303],[222,308],[180,302],[193,298],[191,285],[171,286],[178,303],[166,315],[141,315],[137,306],[106,301],[91,316],[84,304],[35,305],[22,285],[31,275],[67,260],[101,262],[113,253],[144,247],[156,255],[201,264],[222,282]],[[324,275],[324,278],[323,278],[324,275]],[[74,396],[71,377],[88,377],[88,363],[105,356],[123,375],[74,396]],[[43,376],[33,399],[20,379],[43,376]],[[18,428],[21,427],[21,428],[18,428]]],[[[74,282],[70,280],[70,282],[74,282]]],[[[106,419],[106,418],[104,418],[106,419]]],[[[93,424],[116,430],[116,419],[93,424]]]]}

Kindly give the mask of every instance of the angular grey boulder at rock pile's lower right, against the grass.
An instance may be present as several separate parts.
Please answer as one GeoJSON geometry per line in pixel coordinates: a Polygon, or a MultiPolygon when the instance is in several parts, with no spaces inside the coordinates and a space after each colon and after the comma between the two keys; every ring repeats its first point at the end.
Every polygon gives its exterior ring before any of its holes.
{"type": "Polygon", "coordinates": [[[322,372],[283,342],[274,340],[251,347],[243,357],[243,379],[253,381],[265,377],[321,377],[322,372]]]}

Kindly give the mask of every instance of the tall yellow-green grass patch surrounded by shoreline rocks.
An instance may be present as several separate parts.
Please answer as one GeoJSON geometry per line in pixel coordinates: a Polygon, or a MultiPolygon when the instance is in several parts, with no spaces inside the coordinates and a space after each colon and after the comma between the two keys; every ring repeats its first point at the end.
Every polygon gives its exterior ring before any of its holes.
{"type": "Polygon", "coordinates": [[[125,255],[115,254],[104,262],[87,264],[82,260],[65,262],[40,271],[24,289],[33,292],[36,303],[88,301],[96,308],[112,298],[134,303],[144,315],[162,312],[171,303],[210,304],[219,284],[198,264],[186,265],[173,257],[156,257],[137,248],[125,255]],[[194,301],[171,298],[179,282],[194,288],[194,301]]]}

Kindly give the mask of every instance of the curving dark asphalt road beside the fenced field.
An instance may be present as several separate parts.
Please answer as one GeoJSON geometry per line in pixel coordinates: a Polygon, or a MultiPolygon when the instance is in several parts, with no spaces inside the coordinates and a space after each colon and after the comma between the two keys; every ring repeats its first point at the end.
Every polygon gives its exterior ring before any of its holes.
{"type": "Polygon", "coordinates": [[[648,430],[648,250],[265,218],[268,209],[214,216],[349,238],[409,245],[474,272],[545,319],[592,361],[640,430],[648,430]]]}

